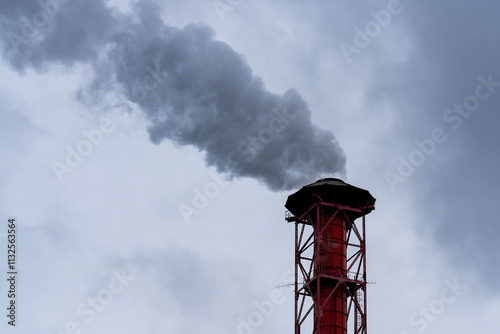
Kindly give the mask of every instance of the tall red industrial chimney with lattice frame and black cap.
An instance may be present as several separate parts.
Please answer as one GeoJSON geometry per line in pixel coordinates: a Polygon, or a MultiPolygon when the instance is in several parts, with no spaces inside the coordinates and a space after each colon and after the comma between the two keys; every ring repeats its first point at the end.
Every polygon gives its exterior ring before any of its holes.
{"type": "Polygon", "coordinates": [[[311,311],[313,334],[347,334],[351,311],[354,333],[366,334],[365,215],[375,198],[328,178],[288,196],[285,207],[295,222],[295,334],[311,311]]]}

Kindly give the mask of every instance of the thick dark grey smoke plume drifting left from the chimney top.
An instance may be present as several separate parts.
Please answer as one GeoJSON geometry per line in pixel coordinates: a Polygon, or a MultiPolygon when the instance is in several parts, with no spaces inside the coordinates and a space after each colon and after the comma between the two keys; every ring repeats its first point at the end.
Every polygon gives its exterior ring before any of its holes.
{"type": "Polygon", "coordinates": [[[153,143],[192,145],[231,177],[288,190],[345,173],[335,136],[312,124],[297,91],[269,92],[212,28],[168,26],[159,12],[146,2],[133,15],[102,1],[2,2],[2,55],[19,71],[92,66],[82,96],[113,87],[145,113],[153,143]]]}

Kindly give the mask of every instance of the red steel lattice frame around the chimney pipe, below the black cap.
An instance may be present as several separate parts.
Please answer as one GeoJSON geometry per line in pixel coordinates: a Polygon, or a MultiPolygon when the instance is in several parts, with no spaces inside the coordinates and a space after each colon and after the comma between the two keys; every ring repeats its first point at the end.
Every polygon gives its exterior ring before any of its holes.
{"type": "MultiPolygon", "coordinates": [[[[304,327],[304,322],[311,319],[314,324],[313,334],[319,334],[320,323],[326,322],[323,319],[324,304],[333,296],[335,291],[343,286],[348,293],[347,315],[348,321],[354,323],[354,334],[367,334],[366,323],[366,244],[365,244],[365,214],[360,208],[352,208],[345,205],[318,202],[308,208],[300,217],[286,218],[289,222],[295,222],[295,334],[301,334],[301,329],[304,327]],[[333,207],[337,211],[325,224],[323,229],[319,229],[319,217],[321,206],[333,207]],[[312,212],[316,212],[317,221],[313,221],[312,212]],[[361,216],[361,226],[357,226],[354,221],[349,218],[348,212],[358,212],[361,216]],[[320,248],[324,247],[322,232],[325,227],[330,224],[333,217],[341,214],[345,217],[349,226],[347,240],[345,242],[348,254],[351,254],[347,259],[347,271],[338,270],[334,275],[314,273],[315,257],[319,256],[320,248]],[[300,226],[299,226],[300,225],[300,226]],[[306,228],[312,229],[306,232],[306,228]],[[313,252],[312,256],[308,256],[307,252],[313,252]],[[320,304],[319,291],[321,281],[325,279],[334,279],[337,284],[331,291],[330,295],[320,304]],[[312,284],[315,289],[312,289],[312,284]],[[315,290],[315,291],[313,291],[315,290]],[[306,306],[305,305],[309,305],[306,306]],[[305,308],[304,308],[305,307],[305,308]],[[315,312],[312,312],[315,310],[315,312]],[[352,311],[352,313],[351,313],[352,311]],[[311,315],[312,314],[312,315],[311,315]],[[351,317],[352,314],[352,317],[351,317]]],[[[329,240],[332,242],[332,240],[329,240]]],[[[334,333],[333,329],[327,328],[329,334],[334,333]]],[[[310,332],[306,332],[310,333],[310,332]]]]}

